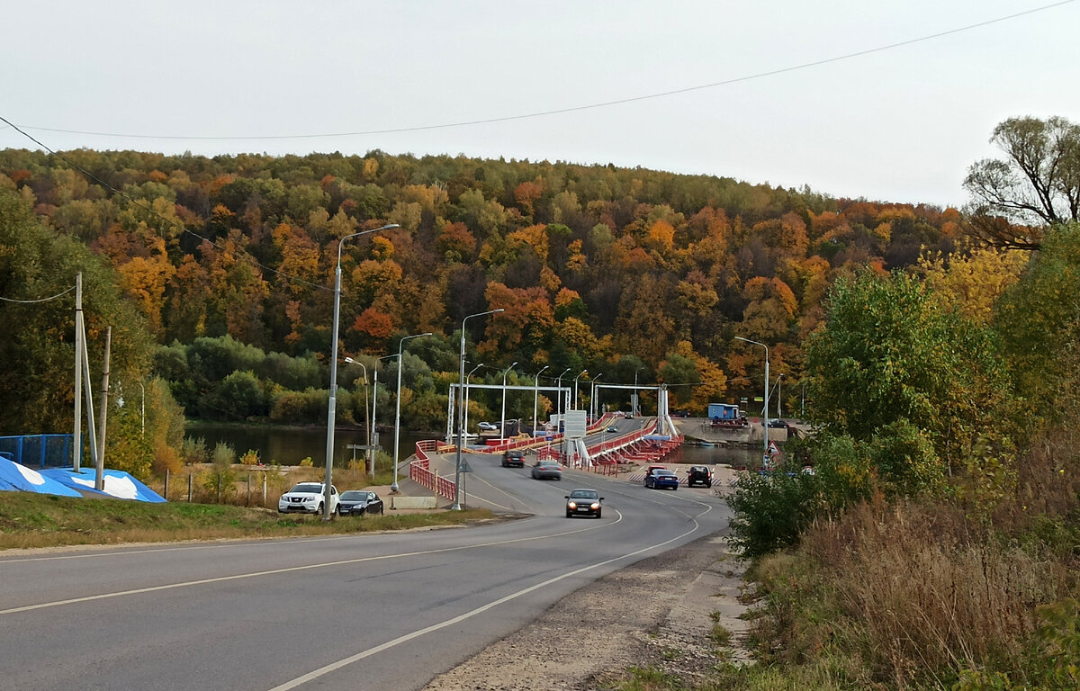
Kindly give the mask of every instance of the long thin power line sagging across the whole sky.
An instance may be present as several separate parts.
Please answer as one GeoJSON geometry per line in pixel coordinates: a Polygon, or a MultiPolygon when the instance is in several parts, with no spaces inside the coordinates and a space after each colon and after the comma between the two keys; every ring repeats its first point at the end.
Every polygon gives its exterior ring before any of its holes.
{"type": "MultiPolygon", "coordinates": [[[[568,106],[565,108],[553,108],[551,110],[540,110],[536,112],[519,113],[516,116],[503,116],[499,118],[482,118],[476,120],[463,120],[460,122],[447,122],[440,124],[430,125],[417,125],[411,127],[390,127],[386,130],[360,130],[356,132],[333,132],[325,134],[286,134],[286,135],[264,135],[264,136],[187,136],[187,135],[149,135],[149,134],[118,134],[110,132],[86,132],[82,130],[60,130],[55,127],[38,127],[26,125],[27,130],[39,130],[42,132],[56,132],[63,134],[79,134],[95,137],[120,137],[127,139],[189,139],[189,140],[202,140],[202,141],[242,141],[242,140],[270,140],[270,139],[316,139],[316,138],[332,138],[332,137],[360,137],[369,136],[377,134],[401,134],[406,132],[424,132],[429,130],[447,130],[451,127],[467,127],[471,125],[483,125],[492,124],[496,122],[510,122],[514,120],[529,120],[532,118],[545,118],[548,116],[558,116],[568,112],[579,112],[582,110],[594,110],[597,108],[609,108],[611,106],[621,106],[625,104],[638,103],[643,100],[652,100],[657,98],[666,98],[669,96],[677,96],[679,94],[688,94],[696,91],[704,91],[706,89],[716,89],[718,86],[728,86],[731,84],[738,84],[741,82],[748,82],[756,79],[762,79],[766,77],[775,77],[777,74],[784,74],[787,72],[799,71],[804,69],[810,69],[812,67],[820,67],[822,65],[828,65],[831,63],[839,63],[841,60],[848,60],[855,57],[863,57],[866,55],[872,55],[874,53],[880,53],[883,51],[891,51],[897,48],[904,48],[906,45],[913,45],[915,43],[923,43],[927,41],[932,41],[935,39],[944,38],[946,36],[953,36],[956,33],[961,33],[963,31],[970,31],[972,29],[978,29],[985,26],[990,26],[993,24],[999,24],[1001,22],[1008,22],[1010,19],[1015,19],[1028,14],[1035,14],[1037,12],[1043,12],[1045,10],[1052,10],[1065,4],[1075,2],[1075,0],[1059,0],[1058,2],[1053,2],[1051,4],[1041,5],[1038,8],[1032,8],[1030,10],[1024,10],[1023,12],[1016,12],[1014,14],[1008,14],[1000,17],[995,17],[993,19],[986,19],[985,22],[976,22],[975,24],[969,24],[967,26],[957,27],[955,29],[948,29],[945,31],[939,31],[936,33],[930,33],[928,36],[921,36],[914,39],[907,39],[904,41],[897,41],[895,43],[888,43],[886,45],[879,45],[877,48],[866,49],[864,51],[855,51],[854,53],[845,53],[843,55],[835,55],[833,57],[822,58],[820,60],[812,60],[809,63],[801,63],[799,65],[793,65],[789,67],[782,67],[779,69],[767,70],[764,72],[755,72],[753,74],[744,74],[743,77],[734,77],[731,79],[726,79],[717,82],[711,82],[707,84],[698,84],[697,86],[686,86],[683,89],[673,89],[671,91],[663,91],[653,94],[645,94],[642,96],[629,96],[625,98],[618,98],[615,100],[605,100],[595,104],[586,104],[583,106],[568,106]]],[[[6,122],[6,121],[5,121],[6,122]]],[[[9,123],[11,124],[11,123],[9,123]]],[[[14,126],[14,125],[12,125],[14,126]]],[[[17,127],[16,127],[17,130],[17,127]]],[[[22,132],[22,131],[19,131],[22,132]]],[[[25,134],[25,133],[23,133],[25,134]]]]}

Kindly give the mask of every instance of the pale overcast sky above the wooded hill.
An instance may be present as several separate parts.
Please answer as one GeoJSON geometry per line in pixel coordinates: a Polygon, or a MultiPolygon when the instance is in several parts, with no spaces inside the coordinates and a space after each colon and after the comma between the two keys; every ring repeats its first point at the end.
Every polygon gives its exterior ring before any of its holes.
{"type": "Polygon", "coordinates": [[[610,162],[960,206],[997,123],[1080,122],[1080,0],[1053,2],[11,2],[0,116],[55,150],[610,162]],[[337,133],[360,134],[286,138],[337,133]]]}

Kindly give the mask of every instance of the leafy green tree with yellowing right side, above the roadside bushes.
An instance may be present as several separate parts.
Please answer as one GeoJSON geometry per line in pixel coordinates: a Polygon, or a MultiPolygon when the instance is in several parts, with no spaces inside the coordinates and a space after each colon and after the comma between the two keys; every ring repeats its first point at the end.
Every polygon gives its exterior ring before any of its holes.
{"type": "MultiPolygon", "coordinates": [[[[828,433],[865,442],[902,423],[897,434],[918,451],[908,462],[942,471],[945,462],[963,468],[976,441],[1008,433],[1000,415],[1010,387],[993,334],[946,311],[913,276],[863,271],[839,280],[807,357],[811,419],[828,433]],[[930,457],[907,425],[932,445],[930,457]]],[[[918,487],[932,473],[893,471],[920,478],[918,487]]]]}

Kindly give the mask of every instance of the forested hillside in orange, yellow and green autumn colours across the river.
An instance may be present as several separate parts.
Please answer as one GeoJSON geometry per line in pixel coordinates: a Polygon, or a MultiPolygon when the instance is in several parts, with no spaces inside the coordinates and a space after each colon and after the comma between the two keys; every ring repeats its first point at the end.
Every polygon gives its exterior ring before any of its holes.
{"type": "MultiPolygon", "coordinates": [[[[443,339],[410,350],[431,351],[424,360],[438,370],[436,351],[456,353],[462,317],[501,308],[470,321],[471,362],[492,372],[550,365],[552,377],[588,369],[585,379],[603,372],[609,383],[637,375],[698,411],[761,394],[761,354],[734,336],[770,347],[793,409],[802,343],[836,276],[947,252],[962,223],[955,209],[730,178],[377,150],[9,149],[0,188],[107,259],[163,346],[229,336],[323,363],[339,239],[397,223],[340,248],[343,355],[381,356],[403,335],[432,331],[443,339]]],[[[327,378],[305,367],[302,383],[325,389],[327,378]]],[[[456,369],[453,357],[445,369],[456,369]]],[[[189,415],[214,417],[213,405],[194,405],[198,392],[175,393],[189,415]]]]}

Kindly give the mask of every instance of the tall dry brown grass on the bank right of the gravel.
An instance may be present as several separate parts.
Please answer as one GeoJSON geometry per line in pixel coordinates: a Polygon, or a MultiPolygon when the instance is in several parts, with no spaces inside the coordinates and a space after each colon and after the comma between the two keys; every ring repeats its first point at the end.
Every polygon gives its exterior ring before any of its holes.
{"type": "Polygon", "coordinates": [[[829,636],[890,688],[948,687],[963,669],[1023,677],[1037,608],[1080,590],[1078,441],[1058,430],[1036,445],[988,514],[878,501],[815,524],[799,555],[822,569],[829,636]]]}

